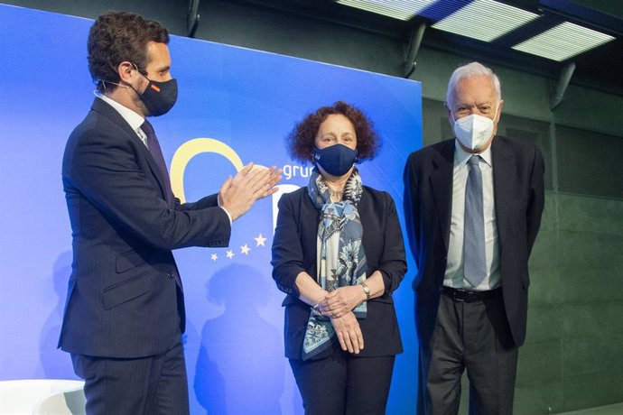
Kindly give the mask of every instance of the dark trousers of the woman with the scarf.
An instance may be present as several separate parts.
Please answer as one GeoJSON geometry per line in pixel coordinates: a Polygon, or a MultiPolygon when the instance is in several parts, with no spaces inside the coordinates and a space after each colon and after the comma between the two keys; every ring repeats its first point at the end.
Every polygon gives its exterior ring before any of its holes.
{"type": "Polygon", "coordinates": [[[307,415],[384,414],[395,356],[290,359],[307,415]]]}

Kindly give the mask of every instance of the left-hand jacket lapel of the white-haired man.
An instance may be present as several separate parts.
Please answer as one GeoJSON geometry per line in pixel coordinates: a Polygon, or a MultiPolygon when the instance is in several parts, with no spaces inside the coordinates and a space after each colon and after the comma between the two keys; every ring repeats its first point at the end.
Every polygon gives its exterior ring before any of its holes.
{"type": "Polygon", "coordinates": [[[446,251],[450,240],[450,220],[452,210],[452,171],[454,166],[454,140],[449,140],[433,160],[435,171],[431,174],[432,194],[441,226],[446,251]]]}

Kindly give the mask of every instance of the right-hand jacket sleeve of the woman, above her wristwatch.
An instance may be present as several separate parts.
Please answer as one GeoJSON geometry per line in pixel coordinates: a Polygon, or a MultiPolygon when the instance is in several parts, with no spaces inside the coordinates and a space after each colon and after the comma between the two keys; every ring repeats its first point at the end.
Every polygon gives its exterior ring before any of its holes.
{"type": "Polygon", "coordinates": [[[384,194],[386,196],[386,208],[385,212],[383,212],[386,216],[386,228],[383,233],[385,240],[383,254],[381,254],[381,263],[377,270],[383,275],[385,295],[387,295],[394,292],[400,285],[400,282],[403,281],[404,274],[406,273],[406,260],[404,258],[403,231],[400,228],[395,203],[388,193],[384,194]]]}

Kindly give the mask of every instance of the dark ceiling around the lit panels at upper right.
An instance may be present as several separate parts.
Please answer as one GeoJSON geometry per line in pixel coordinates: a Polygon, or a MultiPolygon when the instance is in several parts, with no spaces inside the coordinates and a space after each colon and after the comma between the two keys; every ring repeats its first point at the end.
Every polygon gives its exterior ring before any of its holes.
{"type": "MultiPolygon", "coordinates": [[[[623,1],[609,2],[590,0],[503,0],[535,14],[547,14],[553,18],[581,24],[590,29],[616,37],[590,51],[570,60],[557,62],[547,60],[508,46],[479,42],[470,38],[432,29],[429,19],[415,16],[411,22],[403,22],[353,7],[339,5],[335,0],[239,0],[240,3],[269,7],[287,14],[300,14],[339,24],[358,27],[403,39],[405,43],[412,30],[420,23],[426,24],[422,44],[425,47],[451,51],[464,56],[496,62],[514,69],[534,72],[549,78],[559,78],[563,68],[575,63],[573,84],[600,89],[623,96],[623,1]]],[[[471,0],[440,0],[470,3],[471,0]]],[[[497,0],[500,1],[500,0],[497,0]]]]}

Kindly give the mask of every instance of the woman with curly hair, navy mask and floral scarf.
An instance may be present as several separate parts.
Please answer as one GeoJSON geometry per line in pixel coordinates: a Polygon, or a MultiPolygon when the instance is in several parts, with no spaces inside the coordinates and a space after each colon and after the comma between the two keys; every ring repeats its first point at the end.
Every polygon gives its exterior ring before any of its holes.
{"type": "Polygon", "coordinates": [[[406,263],[394,200],[355,167],[375,157],[378,136],[337,102],[307,115],[287,145],[315,165],[306,188],[279,200],[272,261],[305,413],[383,414],[402,352],[392,292],[406,263]]]}

